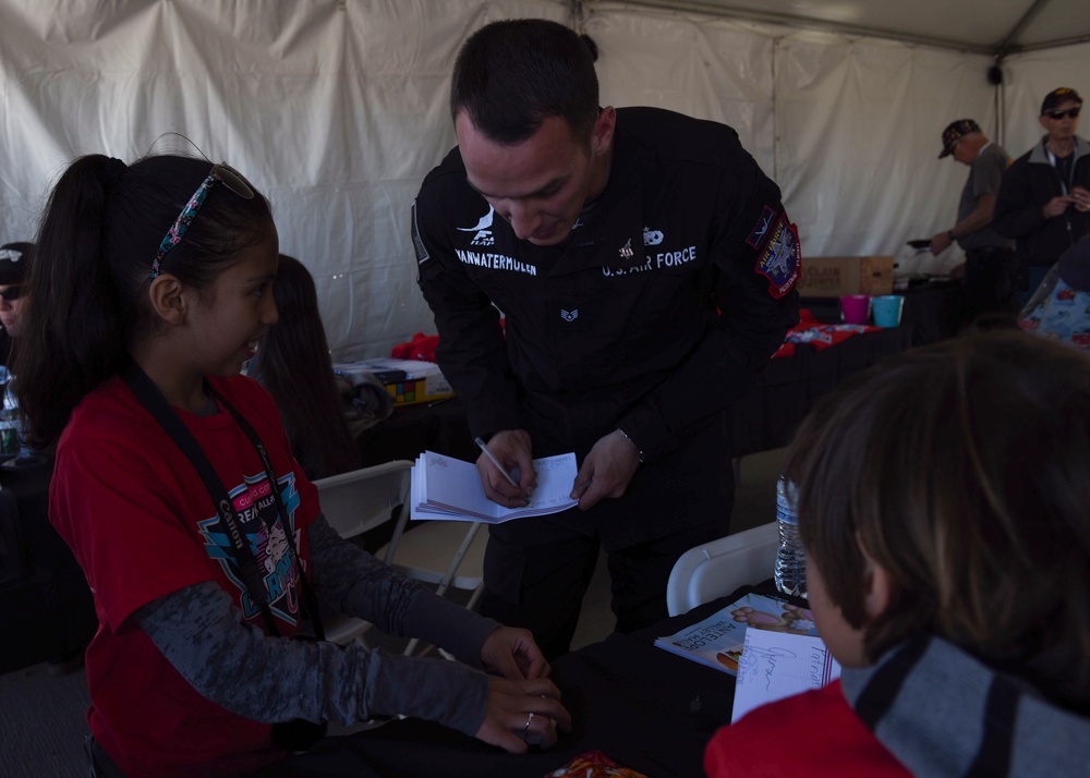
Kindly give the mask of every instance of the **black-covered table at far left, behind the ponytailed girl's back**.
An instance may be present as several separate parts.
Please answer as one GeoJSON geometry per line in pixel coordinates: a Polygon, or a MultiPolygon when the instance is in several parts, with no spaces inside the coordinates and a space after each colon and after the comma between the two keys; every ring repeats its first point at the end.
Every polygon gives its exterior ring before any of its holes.
{"type": "Polygon", "coordinates": [[[81,652],[98,628],[87,579],[49,523],[51,477],[51,460],[29,470],[0,470],[0,499],[14,496],[19,511],[22,563],[19,574],[0,585],[10,609],[0,641],[0,673],[68,658],[81,652]]]}

